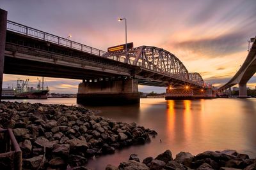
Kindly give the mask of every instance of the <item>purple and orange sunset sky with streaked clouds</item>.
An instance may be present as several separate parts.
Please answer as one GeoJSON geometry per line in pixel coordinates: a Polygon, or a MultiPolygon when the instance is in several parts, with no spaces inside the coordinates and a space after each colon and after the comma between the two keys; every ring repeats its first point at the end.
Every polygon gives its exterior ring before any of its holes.
{"type": "MultiPolygon", "coordinates": [[[[256,36],[255,0],[1,0],[8,20],[106,51],[127,42],[164,48],[189,72],[215,87],[238,71],[248,54],[247,40],[256,36]]],[[[4,74],[3,87],[17,78],[36,84],[36,77],[4,74]]],[[[77,93],[81,80],[45,78],[51,92],[77,93]]],[[[247,86],[255,89],[256,75],[247,86]]],[[[163,88],[139,86],[141,92],[163,88]]]]}

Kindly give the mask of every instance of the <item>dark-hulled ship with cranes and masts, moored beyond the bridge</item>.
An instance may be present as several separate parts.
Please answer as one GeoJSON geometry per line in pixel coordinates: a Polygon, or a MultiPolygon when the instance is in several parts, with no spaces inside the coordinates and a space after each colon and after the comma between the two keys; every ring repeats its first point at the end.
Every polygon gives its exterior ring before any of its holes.
{"type": "Polygon", "coordinates": [[[37,78],[36,88],[28,87],[29,78],[24,80],[17,80],[17,87],[15,91],[15,99],[47,99],[48,87],[44,87],[44,77],[41,80],[37,78]]]}

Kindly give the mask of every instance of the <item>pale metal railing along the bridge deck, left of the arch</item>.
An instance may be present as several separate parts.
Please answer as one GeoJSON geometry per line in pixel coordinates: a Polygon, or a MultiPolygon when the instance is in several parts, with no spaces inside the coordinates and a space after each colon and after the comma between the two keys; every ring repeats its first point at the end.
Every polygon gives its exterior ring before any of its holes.
{"type": "Polygon", "coordinates": [[[97,48],[93,48],[91,46],[83,45],[81,43],[77,43],[75,41],[71,41],[67,38],[61,38],[59,36],[55,36],[53,34],[49,34],[44,31],[40,31],[38,29],[34,29],[28,27],[26,25],[19,24],[17,22],[12,22],[8,20],[7,22],[7,29],[9,31],[18,32],[20,34],[24,34],[26,36],[31,36],[34,38],[42,39],[44,41],[49,41],[51,43],[56,43],[58,45],[67,46],[76,50],[80,50],[82,52],[92,53],[93,55],[102,56],[104,51],[99,50],[97,48]]]}

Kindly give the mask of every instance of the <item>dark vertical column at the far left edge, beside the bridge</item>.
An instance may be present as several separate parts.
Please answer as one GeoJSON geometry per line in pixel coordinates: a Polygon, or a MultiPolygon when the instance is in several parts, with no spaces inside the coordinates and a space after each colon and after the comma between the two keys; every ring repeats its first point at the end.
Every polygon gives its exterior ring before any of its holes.
{"type": "Polygon", "coordinates": [[[2,86],[3,86],[6,26],[7,26],[7,11],[0,9],[0,102],[2,97],[2,86]]]}

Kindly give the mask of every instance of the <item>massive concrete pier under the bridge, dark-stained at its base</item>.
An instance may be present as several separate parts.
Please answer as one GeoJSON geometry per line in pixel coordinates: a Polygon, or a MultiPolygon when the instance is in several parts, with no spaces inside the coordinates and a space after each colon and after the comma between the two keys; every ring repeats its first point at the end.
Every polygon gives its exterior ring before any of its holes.
{"type": "Polygon", "coordinates": [[[138,81],[128,79],[79,83],[77,103],[85,105],[139,104],[138,81]]]}

